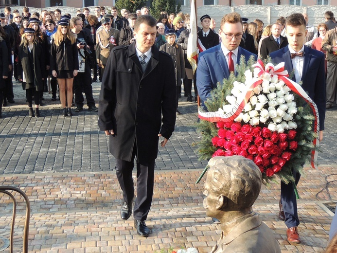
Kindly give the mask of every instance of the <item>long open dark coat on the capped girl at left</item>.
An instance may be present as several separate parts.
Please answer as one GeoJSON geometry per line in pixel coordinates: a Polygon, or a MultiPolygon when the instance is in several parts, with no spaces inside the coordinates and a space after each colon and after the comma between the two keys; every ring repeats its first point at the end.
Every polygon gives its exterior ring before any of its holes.
{"type": "Polygon", "coordinates": [[[18,51],[18,79],[22,79],[24,72],[27,84],[34,84],[36,90],[44,90],[42,78],[46,78],[45,52],[40,43],[33,44],[34,73],[31,72],[29,50],[20,45],[18,51]]]}

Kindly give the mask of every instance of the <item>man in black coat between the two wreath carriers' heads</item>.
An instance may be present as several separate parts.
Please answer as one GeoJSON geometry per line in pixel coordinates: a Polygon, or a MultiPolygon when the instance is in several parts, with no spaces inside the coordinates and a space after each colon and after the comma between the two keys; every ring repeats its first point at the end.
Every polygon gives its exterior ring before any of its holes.
{"type": "Polygon", "coordinates": [[[281,25],[275,23],[271,26],[271,35],[261,42],[261,58],[266,59],[270,53],[280,50],[287,45],[287,38],[281,36],[281,25]]]}

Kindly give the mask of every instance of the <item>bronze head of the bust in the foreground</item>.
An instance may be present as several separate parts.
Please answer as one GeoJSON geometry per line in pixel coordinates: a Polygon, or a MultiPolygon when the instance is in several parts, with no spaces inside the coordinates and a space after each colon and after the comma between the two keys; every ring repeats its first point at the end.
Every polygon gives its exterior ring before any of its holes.
{"type": "Polygon", "coordinates": [[[251,212],[262,184],[256,164],[243,156],[213,157],[208,164],[204,199],[207,216],[221,220],[231,211],[251,212]]]}

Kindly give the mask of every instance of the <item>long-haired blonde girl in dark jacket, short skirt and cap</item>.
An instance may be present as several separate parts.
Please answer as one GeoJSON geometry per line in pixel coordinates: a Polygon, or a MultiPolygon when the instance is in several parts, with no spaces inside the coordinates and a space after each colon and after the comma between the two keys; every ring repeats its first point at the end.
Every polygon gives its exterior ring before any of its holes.
{"type": "Polygon", "coordinates": [[[69,29],[69,22],[61,19],[58,21],[57,32],[54,34],[51,49],[51,70],[60,91],[60,100],[63,108],[63,116],[72,116],[72,83],[74,76],[77,75],[78,51],[76,38],[69,29]],[[66,99],[67,90],[67,99],[66,99]],[[66,109],[66,100],[67,106],[66,109]]]}

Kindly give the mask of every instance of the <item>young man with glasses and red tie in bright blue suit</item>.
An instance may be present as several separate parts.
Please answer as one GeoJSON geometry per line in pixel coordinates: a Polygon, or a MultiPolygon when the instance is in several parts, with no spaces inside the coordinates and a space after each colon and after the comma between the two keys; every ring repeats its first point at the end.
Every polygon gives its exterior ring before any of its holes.
{"type": "MultiPolygon", "coordinates": [[[[196,69],[196,86],[201,100],[204,102],[216,88],[217,82],[235,72],[235,65],[239,64],[241,55],[245,55],[246,63],[250,55],[257,55],[239,47],[243,36],[243,24],[238,13],[230,13],[221,19],[219,36],[221,44],[199,54],[196,69]]],[[[236,74],[236,72],[235,72],[236,74]]]]}

